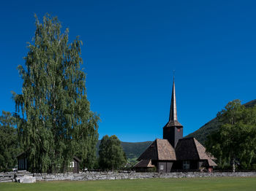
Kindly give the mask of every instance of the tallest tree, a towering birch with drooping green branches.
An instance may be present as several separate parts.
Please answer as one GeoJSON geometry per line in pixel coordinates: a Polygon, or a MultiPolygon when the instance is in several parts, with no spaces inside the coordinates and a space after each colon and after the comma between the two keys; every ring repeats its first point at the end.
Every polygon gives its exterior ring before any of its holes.
{"type": "Polygon", "coordinates": [[[82,42],[77,37],[69,43],[68,33],[61,33],[57,17],[45,15],[42,23],[36,17],[25,67],[18,66],[23,88],[13,96],[22,113],[18,130],[29,149],[31,171],[52,172],[60,166],[64,171],[73,155],[83,164],[94,162],[99,116],[91,112],[86,96],[82,42]]]}

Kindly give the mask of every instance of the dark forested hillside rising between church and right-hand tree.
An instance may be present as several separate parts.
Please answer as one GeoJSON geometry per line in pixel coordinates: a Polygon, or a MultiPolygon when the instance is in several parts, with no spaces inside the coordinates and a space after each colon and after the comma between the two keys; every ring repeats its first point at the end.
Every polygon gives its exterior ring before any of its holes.
{"type": "MultiPolygon", "coordinates": [[[[246,107],[251,107],[251,106],[255,106],[255,105],[256,105],[256,99],[244,104],[244,106],[246,106],[246,107]]],[[[199,128],[198,130],[196,130],[193,133],[190,133],[186,137],[195,137],[195,139],[197,139],[201,144],[204,144],[208,134],[210,134],[214,130],[217,130],[219,128],[219,125],[220,124],[219,124],[217,118],[215,117],[213,120],[207,122],[201,128],[199,128]]]]}

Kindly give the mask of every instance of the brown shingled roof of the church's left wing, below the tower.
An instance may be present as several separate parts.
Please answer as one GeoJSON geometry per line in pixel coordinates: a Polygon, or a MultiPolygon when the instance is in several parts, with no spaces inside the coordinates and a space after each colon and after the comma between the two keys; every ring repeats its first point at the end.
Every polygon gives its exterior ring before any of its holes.
{"type": "Polygon", "coordinates": [[[156,139],[138,160],[176,160],[175,150],[167,139],[156,139]]]}

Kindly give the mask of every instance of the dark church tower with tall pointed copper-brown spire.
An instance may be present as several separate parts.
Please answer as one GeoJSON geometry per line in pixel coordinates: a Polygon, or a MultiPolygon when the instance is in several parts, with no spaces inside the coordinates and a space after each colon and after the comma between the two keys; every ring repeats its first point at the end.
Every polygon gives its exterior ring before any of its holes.
{"type": "Polygon", "coordinates": [[[175,82],[173,78],[173,93],[170,103],[170,117],[169,121],[163,128],[163,139],[167,139],[173,148],[176,147],[178,139],[183,138],[183,126],[178,122],[177,108],[176,108],[176,93],[175,82]]]}

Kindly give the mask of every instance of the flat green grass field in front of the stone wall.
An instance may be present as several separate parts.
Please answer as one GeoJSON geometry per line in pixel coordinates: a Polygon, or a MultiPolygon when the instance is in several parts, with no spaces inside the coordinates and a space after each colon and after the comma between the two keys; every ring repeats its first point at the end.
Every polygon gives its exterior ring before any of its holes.
{"type": "Polygon", "coordinates": [[[83,182],[37,182],[34,184],[0,183],[0,190],[256,190],[256,177],[192,178],[192,179],[133,179],[83,182]]]}

